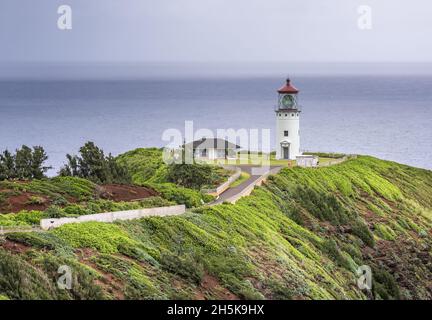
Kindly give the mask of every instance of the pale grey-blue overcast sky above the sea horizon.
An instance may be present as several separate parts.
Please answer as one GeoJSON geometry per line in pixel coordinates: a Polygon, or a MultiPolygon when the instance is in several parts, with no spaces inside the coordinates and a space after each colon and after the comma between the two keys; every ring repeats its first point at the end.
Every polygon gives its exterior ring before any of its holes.
{"type": "Polygon", "coordinates": [[[432,62],[431,34],[430,0],[0,1],[2,64],[432,62]],[[62,4],[72,30],[57,28],[62,4]]]}

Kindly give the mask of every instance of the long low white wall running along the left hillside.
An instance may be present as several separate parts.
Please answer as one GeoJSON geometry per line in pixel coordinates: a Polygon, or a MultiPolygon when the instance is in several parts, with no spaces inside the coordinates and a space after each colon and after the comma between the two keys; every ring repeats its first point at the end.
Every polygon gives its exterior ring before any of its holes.
{"type": "Polygon", "coordinates": [[[96,213],[79,216],[76,218],[42,219],[40,222],[40,226],[43,230],[49,230],[53,228],[58,228],[67,223],[83,223],[88,221],[113,222],[116,220],[133,220],[151,216],[172,216],[179,215],[185,212],[186,207],[182,204],[169,207],[156,207],[138,210],[96,213]]]}

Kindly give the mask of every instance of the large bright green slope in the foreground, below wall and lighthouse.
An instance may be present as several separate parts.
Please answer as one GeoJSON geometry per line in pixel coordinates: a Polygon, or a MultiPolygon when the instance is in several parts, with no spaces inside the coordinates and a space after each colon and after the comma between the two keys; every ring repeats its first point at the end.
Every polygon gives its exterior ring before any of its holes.
{"type": "Polygon", "coordinates": [[[237,204],[175,217],[15,233],[9,299],[431,299],[432,172],[371,157],[283,169],[237,204]],[[55,285],[69,265],[72,290],[55,285]]]}

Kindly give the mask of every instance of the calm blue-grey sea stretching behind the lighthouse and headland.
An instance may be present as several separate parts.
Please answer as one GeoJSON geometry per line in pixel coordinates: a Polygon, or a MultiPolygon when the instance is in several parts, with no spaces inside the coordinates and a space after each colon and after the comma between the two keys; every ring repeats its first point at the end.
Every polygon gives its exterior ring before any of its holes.
{"type": "MultiPolygon", "coordinates": [[[[368,154],[432,169],[432,76],[307,76],[303,150],[368,154]]],[[[280,77],[0,82],[0,150],[41,145],[54,166],[94,141],[114,155],[162,147],[184,121],[211,130],[275,128],[280,77]]],[[[272,140],[272,144],[274,141],[272,140]]]]}

